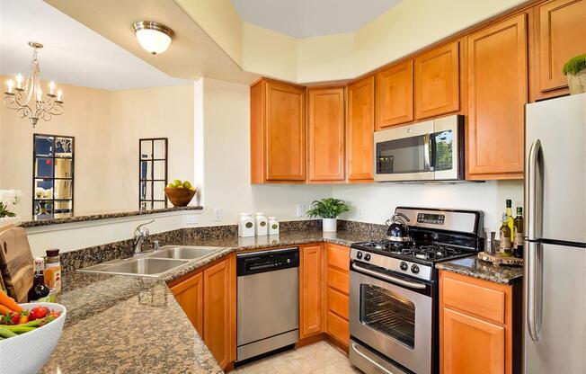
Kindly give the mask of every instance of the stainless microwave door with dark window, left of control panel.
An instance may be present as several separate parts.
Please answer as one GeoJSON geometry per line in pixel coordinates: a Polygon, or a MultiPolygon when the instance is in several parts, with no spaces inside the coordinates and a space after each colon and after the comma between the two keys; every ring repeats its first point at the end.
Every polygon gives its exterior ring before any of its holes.
{"type": "Polygon", "coordinates": [[[375,132],[375,181],[432,181],[433,120],[375,132]]]}

